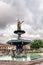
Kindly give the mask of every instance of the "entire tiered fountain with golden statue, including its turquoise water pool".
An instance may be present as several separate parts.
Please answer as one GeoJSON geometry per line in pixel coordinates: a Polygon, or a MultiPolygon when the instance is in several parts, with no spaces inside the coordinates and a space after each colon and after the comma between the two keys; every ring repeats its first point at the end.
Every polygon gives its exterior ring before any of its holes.
{"type": "MultiPolygon", "coordinates": [[[[7,62],[9,62],[8,60],[10,60],[11,63],[12,63],[12,61],[25,61],[27,63],[27,61],[29,62],[34,59],[43,58],[42,56],[40,56],[36,53],[32,53],[32,54],[27,53],[26,55],[23,53],[23,46],[29,44],[31,41],[24,40],[21,38],[21,35],[25,33],[25,31],[21,29],[22,23],[23,22],[18,21],[17,30],[14,31],[14,33],[18,35],[17,40],[9,40],[7,42],[10,45],[14,45],[14,47],[12,49],[10,49],[10,51],[9,51],[10,54],[7,53],[7,54],[0,56],[0,60],[6,60],[7,62]],[[16,46],[16,49],[14,51],[15,46],[16,46]]],[[[6,61],[4,61],[4,62],[6,62],[6,61]]],[[[20,63],[25,63],[25,62],[20,62],[20,63]]]]}

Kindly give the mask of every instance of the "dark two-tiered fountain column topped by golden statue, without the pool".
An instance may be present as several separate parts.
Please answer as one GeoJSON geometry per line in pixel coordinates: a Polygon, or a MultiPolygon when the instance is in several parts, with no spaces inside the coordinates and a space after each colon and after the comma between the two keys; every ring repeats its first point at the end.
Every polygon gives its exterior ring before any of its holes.
{"type": "Polygon", "coordinates": [[[7,42],[8,44],[15,45],[15,46],[16,46],[16,51],[17,51],[17,53],[19,53],[19,54],[22,53],[22,51],[23,51],[23,46],[30,43],[30,40],[24,40],[24,39],[21,38],[21,35],[25,33],[25,31],[21,29],[21,24],[22,24],[22,23],[23,23],[23,21],[20,22],[20,21],[18,20],[17,30],[14,31],[14,33],[18,35],[17,40],[9,40],[9,41],[7,42]]]}

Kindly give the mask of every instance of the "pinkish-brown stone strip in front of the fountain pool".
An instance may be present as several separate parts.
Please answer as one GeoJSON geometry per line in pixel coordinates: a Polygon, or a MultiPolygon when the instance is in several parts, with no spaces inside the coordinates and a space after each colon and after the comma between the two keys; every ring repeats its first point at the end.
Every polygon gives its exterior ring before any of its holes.
{"type": "Polygon", "coordinates": [[[43,59],[32,61],[0,61],[0,65],[43,65],[43,59]]]}

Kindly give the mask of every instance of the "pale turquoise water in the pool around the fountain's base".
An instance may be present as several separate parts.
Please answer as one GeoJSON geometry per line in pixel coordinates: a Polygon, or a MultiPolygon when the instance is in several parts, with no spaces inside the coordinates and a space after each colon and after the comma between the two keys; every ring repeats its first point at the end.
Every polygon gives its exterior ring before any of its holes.
{"type": "Polygon", "coordinates": [[[29,55],[24,57],[13,57],[13,56],[0,56],[0,60],[13,60],[13,61],[31,61],[35,59],[42,58],[39,55],[29,55]]]}

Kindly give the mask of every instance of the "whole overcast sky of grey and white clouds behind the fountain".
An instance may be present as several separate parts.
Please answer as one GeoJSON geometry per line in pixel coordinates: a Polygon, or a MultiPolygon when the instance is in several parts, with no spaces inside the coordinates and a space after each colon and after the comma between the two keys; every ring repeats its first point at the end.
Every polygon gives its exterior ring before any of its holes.
{"type": "Polygon", "coordinates": [[[23,39],[43,39],[43,0],[0,0],[0,43],[17,38],[18,19],[23,39]]]}

